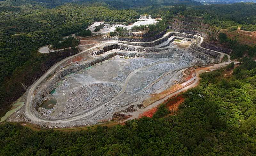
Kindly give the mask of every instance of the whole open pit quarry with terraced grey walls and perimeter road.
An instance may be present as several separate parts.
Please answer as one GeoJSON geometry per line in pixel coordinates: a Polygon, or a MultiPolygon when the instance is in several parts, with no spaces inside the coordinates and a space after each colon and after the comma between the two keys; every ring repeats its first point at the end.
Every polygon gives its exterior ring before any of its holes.
{"type": "Polygon", "coordinates": [[[24,107],[9,121],[60,128],[138,118],[196,86],[199,70],[193,67],[230,63],[229,51],[201,46],[205,34],[166,30],[148,38],[81,39],[95,44],[52,66],[28,88],[24,107]]]}

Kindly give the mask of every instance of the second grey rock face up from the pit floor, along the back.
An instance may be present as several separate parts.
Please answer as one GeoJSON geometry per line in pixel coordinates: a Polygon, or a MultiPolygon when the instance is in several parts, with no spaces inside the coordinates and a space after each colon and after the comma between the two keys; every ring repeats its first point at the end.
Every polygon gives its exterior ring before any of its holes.
{"type": "Polygon", "coordinates": [[[127,46],[123,44],[110,44],[107,46],[104,46],[100,50],[92,51],[92,55],[100,55],[103,53],[106,53],[107,51],[113,50],[113,49],[119,49],[119,50],[125,50],[125,51],[137,51],[137,52],[160,52],[163,49],[157,49],[157,48],[149,48],[149,47],[137,47],[137,46],[127,46]]]}

